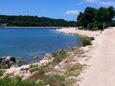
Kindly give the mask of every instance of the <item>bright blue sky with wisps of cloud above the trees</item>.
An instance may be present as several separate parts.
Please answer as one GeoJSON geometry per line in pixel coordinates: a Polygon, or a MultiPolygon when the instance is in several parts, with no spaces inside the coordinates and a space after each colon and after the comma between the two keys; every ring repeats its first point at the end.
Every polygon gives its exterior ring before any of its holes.
{"type": "Polygon", "coordinates": [[[115,7],[115,0],[0,0],[0,14],[76,20],[88,6],[115,7]]]}

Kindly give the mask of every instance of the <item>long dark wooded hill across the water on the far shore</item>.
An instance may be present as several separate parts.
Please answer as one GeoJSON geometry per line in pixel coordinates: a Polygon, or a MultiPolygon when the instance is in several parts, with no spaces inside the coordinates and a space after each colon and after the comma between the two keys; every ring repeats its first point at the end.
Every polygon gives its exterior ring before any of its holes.
{"type": "Polygon", "coordinates": [[[75,26],[74,21],[52,19],[38,16],[8,16],[0,15],[0,24],[7,26],[38,26],[38,27],[69,27],[75,26]]]}

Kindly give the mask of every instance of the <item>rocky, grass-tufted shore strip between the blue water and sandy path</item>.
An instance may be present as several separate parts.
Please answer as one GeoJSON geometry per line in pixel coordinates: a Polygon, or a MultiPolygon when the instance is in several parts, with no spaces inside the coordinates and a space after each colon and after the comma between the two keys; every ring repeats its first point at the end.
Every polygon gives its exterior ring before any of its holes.
{"type": "MultiPolygon", "coordinates": [[[[100,32],[95,33],[95,35],[90,33],[89,35],[95,37],[99,34],[100,32]]],[[[79,75],[86,68],[86,60],[90,57],[89,51],[91,49],[92,46],[69,47],[68,51],[60,49],[57,52],[45,54],[44,58],[36,63],[20,67],[11,66],[6,69],[4,76],[9,74],[31,81],[45,81],[48,78],[47,76],[54,77],[56,75],[64,78],[64,83],[68,86],[78,86],[78,82],[81,80],[79,75]]]]}

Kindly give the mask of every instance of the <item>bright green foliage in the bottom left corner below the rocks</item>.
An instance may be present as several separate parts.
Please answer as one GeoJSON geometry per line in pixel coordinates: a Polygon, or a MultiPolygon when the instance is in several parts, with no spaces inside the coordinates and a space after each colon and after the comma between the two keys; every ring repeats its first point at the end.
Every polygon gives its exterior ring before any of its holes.
{"type": "Polygon", "coordinates": [[[20,77],[6,76],[0,79],[0,86],[45,86],[41,83],[34,83],[28,80],[22,80],[20,77]]]}

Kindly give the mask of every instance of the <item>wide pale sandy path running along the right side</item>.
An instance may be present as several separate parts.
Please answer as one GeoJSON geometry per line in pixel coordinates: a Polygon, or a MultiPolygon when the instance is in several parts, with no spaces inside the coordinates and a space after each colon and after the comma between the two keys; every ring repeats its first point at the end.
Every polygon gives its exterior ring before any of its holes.
{"type": "Polygon", "coordinates": [[[80,86],[115,86],[115,28],[96,37],[80,86]]]}

